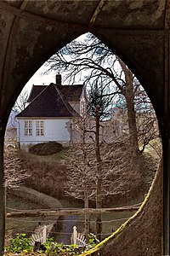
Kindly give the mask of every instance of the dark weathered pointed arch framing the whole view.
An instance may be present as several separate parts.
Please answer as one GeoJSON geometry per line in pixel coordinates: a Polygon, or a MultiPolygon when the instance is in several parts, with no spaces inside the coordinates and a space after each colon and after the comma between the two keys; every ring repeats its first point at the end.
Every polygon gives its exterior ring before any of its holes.
{"type": "MultiPolygon", "coordinates": [[[[164,152],[163,251],[168,254],[170,88],[166,0],[0,3],[0,201],[3,202],[3,136],[8,114],[20,90],[54,51],[88,31],[127,63],[156,109],[164,152]]],[[[4,210],[0,224],[3,250],[4,210]]]]}

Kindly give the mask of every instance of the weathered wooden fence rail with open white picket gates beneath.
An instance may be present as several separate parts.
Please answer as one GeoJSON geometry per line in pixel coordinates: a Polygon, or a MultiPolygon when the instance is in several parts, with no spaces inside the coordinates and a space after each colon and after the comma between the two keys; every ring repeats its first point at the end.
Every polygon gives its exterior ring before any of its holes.
{"type": "MultiPolygon", "coordinates": [[[[8,212],[6,214],[6,218],[27,218],[27,217],[47,217],[47,216],[68,216],[68,215],[84,215],[85,217],[90,216],[91,214],[98,213],[111,213],[111,212],[133,212],[139,209],[139,205],[128,206],[128,207],[117,207],[117,208],[84,208],[84,209],[41,209],[41,210],[29,210],[22,211],[17,210],[16,212],[8,212]]],[[[7,208],[8,210],[8,208],[7,208]]],[[[10,209],[12,210],[12,209],[10,209]]],[[[52,225],[50,224],[50,230],[52,229],[52,225]]],[[[47,225],[43,225],[41,227],[37,227],[39,230],[35,230],[31,235],[32,244],[35,242],[39,242],[43,244],[48,237],[48,227],[47,225]]],[[[89,234],[89,219],[85,218],[85,236],[77,232],[77,227],[73,227],[73,234],[71,236],[71,243],[77,244],[80,246],[86,245],[88,242],[88,234],[89,234]]]]}

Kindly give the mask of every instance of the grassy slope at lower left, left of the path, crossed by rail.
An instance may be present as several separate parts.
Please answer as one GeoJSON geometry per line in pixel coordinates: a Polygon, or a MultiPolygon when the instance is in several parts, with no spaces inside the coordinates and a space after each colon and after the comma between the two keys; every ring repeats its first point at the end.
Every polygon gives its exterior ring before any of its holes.
{"type": "MultiPolygon", "coordinates": [[[[49,207],[61,207],[61,204],[54,198],[42,195],[33,189],[27,189],[28,192],[11,191],[7,197],[7,212],[17,212],[19,210],[47,209],[49,207]],[[30,191],[31,190],[31,191],[30,191]],[[30,191],[30,193],[29,193],[30,191]],[[22,196],[23,195],[23,196],[22,196]],[[44,197],[44,201],[43,201],[44,197]],[[55,203],[56,201],[56,203],[55,203]]],[[[6,244],[9,238],[15,234],[25,233],[31,236],[31,233],[37,228],[38,224],[54,224],[59,216],[52,217],[32,217],[32,218],[7,218],[6,219],[6,244]]]]}

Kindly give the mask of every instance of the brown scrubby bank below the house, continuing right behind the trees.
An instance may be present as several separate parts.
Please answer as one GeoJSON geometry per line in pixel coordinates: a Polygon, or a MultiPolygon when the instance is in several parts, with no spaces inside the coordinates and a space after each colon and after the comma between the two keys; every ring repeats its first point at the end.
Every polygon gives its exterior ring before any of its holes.
{"type": "MultiPolygon", "coordinates": [[[[64,159],[65,151],[67,148],[64,148],[57,154],[52,155],[34,155],[22,153],[21,158],[24,160],[24,168],[31,176],[26,180],[26,187],[31,189],[36,189],[39,192],[44,193],[45,195],[53,196],[58,200],[65,199],[65,184],[67,181],[67,166],[64,159]]],[[[123,160],[123,159],[122,159],[123,160]]],[[[126,169],[122,172],[122,183],[124,191],[128,191],[126,194],[122,191],[115,195],[110,195],[105,198],[104,207],[118,207],[129,204],[130,201],[138,201],[138,198],[144,198],[144,194],[147,193],[150,188],[150,183],[156,172],[156,165],[150,155],[141,154],[140,155],[140,180],[139,187],[133,187],[133,183],[130,183],[130,178],[133,174],[131,169],[126,169]],[[128,175],[129,174],[129,175],[128,175]],[[123,178],[126,180],[123,181],[123,178]],[[127,183],[128,182],[128,183],[127,183]]],[[[111,180],[115,179],[115,176],[110,177],[111,180]]],[[[120,178],[119,178],[120,179],[120,178]]],[[[67,201],[75,201],[73,197],[66,197],[67,201]]],[[[76,200],[77,203],[81,203],[83,207],[83,202],[76,200]]],[[[94,207],[94,203],[90,202],[91,207],[94,207]]]]}

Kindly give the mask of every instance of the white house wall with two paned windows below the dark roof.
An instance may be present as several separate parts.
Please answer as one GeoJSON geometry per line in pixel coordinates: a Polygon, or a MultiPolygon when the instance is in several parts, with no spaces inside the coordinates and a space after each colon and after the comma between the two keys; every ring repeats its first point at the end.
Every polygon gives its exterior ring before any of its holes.
{"type": "Polygon", "coordinates": [[[58,143],[70,143],[71,132],[70,132],[71,119],[18,119],[17,129],[17,142],[20,143],[20,148],[28,150],[31,145],[37,143],[47,142],[58,142],[58,143]],[[32,135],[25,136],[25,120],[32,121],[32,135]],[[43,120],[44,135],[37,136],[36,134],[36,121],[43,120]]]}

